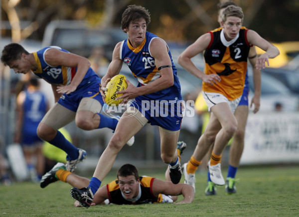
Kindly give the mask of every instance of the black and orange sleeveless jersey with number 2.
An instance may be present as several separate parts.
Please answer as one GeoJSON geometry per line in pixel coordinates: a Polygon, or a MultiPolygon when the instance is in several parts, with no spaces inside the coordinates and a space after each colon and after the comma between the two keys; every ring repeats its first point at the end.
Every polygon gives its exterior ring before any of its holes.
{"type": "Polygon", "coordinates": [[[211,41],[204,52],[205,74],[218,74],[216,85],[203,82],[202,91],[220,93],[232,101],[243,93],[250,44],[248,29],[242,27],[236,38],[226,41],[222,28],[210,31],[211,41]]]}

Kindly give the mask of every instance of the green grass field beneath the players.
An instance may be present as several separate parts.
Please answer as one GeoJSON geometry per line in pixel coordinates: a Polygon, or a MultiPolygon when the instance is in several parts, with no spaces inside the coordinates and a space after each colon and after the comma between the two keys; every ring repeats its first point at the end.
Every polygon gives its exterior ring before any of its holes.
{"type": "MultiPolygon", "coordinates": [[[[140,170],[140,175],[164,179],[164,171],[140,170]]],[[[223,169],[223,175],[226,175],[223,169]]],[[[104,184],[116,177],[112,171],[104,184]]],[[[6,217],[295,217],[299,216],[299,167],[241,167],[237,177],[236,195],[225,195],[224,186],[217,187],[216,196],[205,196],[206,175],[196,174],[193,203],[106,205],[89,209],[74,208],[71,187],[61,181],[41,189],[39,184],[13,183],[0,186],[0,216],[6,217]]],[[[181,180],[183,182],[183,178],[181,180]]],[[[182,200],[179,196],[178,200],[182,200]]]]}

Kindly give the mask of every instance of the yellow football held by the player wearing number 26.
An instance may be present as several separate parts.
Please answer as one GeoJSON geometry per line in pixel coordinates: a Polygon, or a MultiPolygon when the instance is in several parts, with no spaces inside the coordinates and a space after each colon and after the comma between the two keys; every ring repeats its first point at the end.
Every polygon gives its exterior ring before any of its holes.
{"type": "Polygon", "coordinates": [[[116,75],[114,76],[106,85],[107,91],[105,91],[105,101],[108,106],[117,106],[123,99],[115,100],[116,98],[122,96],[123,94],[116,94],[118,91],[126,90],[128,84],[126,82],[126,76],[116,75]]]}

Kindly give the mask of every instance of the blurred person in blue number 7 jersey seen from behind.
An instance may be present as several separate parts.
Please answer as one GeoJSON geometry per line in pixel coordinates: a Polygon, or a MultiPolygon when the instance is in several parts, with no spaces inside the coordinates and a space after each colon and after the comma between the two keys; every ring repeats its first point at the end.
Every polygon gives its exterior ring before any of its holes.
{"type": "Polygon", "coordinates": [[[31,77],[25,90],[16,98],[16,127],[14,142],[21,144],[30,179],[39,182],[44,173],[43,141],[36,129],[49,109],[46,96],[39,90],[39,82],[31,77]]]}

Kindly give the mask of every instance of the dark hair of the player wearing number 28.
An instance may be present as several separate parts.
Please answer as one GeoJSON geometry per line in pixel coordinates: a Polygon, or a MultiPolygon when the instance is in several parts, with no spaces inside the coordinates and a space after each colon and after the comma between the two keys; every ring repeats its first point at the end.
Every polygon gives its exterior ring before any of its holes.
{"type": "Polygon", "coordinates": [[[21,59],[22,53],[25,53],[26,55],[29,54],[29,52],[26,51],[20,44],[7,44],[2,50],[1,62],[7,66],[9,65],[10,61],[21,59]]]}

